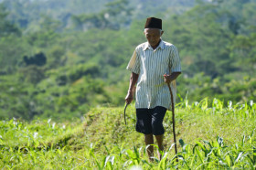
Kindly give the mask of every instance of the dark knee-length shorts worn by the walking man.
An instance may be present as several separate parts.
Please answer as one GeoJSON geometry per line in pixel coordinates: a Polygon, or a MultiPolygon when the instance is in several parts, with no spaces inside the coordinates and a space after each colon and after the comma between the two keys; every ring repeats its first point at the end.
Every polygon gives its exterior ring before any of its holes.
{"type": "Polygon", "coordinates": [[[167,109],[162,106],[156,106],[154,109],[136,109],[136,131],[144,134],[164,134],[163,121],[166,111],[167,109]]]}

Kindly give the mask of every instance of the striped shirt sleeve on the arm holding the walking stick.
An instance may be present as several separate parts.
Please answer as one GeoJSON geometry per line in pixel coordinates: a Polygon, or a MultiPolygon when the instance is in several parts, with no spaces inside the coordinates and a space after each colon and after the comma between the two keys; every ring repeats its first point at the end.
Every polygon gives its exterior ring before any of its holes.
{"type": "Polygon", "coordinates": [[[169,66],[172,72],[181,72],[180,58],[175,46],[173,46],[173,50],[171,51],[169,66]]]}

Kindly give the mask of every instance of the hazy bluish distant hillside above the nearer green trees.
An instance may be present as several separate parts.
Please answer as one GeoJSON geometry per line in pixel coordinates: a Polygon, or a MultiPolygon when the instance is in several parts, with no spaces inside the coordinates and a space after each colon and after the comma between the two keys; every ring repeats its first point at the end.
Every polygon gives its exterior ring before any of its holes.
{"type": "MultiPolygon", "coordinates": [[[[0,1],[1,3],[1,1],[0,1]]],[[[8,10],[8,19],[19,27],[28,31],[36,31],[37,25],[41,25],[44,19],[59,23],[58,31],[72,29],[74,16],[100,13],[112,14],[108,9],[115,8],[116,3],[125,3],[129,8],[130,19],[142,19],[148,16],[155,16],[160,11],[168,10],[169,15],[181,14],[191,8],[194,0],[3,0],[2,4],[8,10]]],[[[121,7],[119,5],[118,7],[121,7]]],[[[124,7],[124,6],[123,6],[124,7]]],[[[122,11],[118,12],[122,15],[122,11]]]]}

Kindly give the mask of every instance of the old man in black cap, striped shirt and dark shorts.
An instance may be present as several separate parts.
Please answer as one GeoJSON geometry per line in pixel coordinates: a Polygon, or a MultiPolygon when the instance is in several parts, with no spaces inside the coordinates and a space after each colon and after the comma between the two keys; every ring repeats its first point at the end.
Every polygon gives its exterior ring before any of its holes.
{"type": "Polygon", "coordinates": [[[175,99],[176,78],[181,73],[177,48],[165,42],[161,38],[163,34],[162,20],[148,17],[144,25],[147,42],[135,48],[127,66],[132,73],[125,101],[128,104],[133,101],[136,85],[136,131],[144,133],[144,143],[149,145],[147,154],[151,161],[154,156],[154,136],[159,150],[164,151],[163,120],[165,112],[171,110],[171,96],[166,83],[171,84],[175,99]]]}

